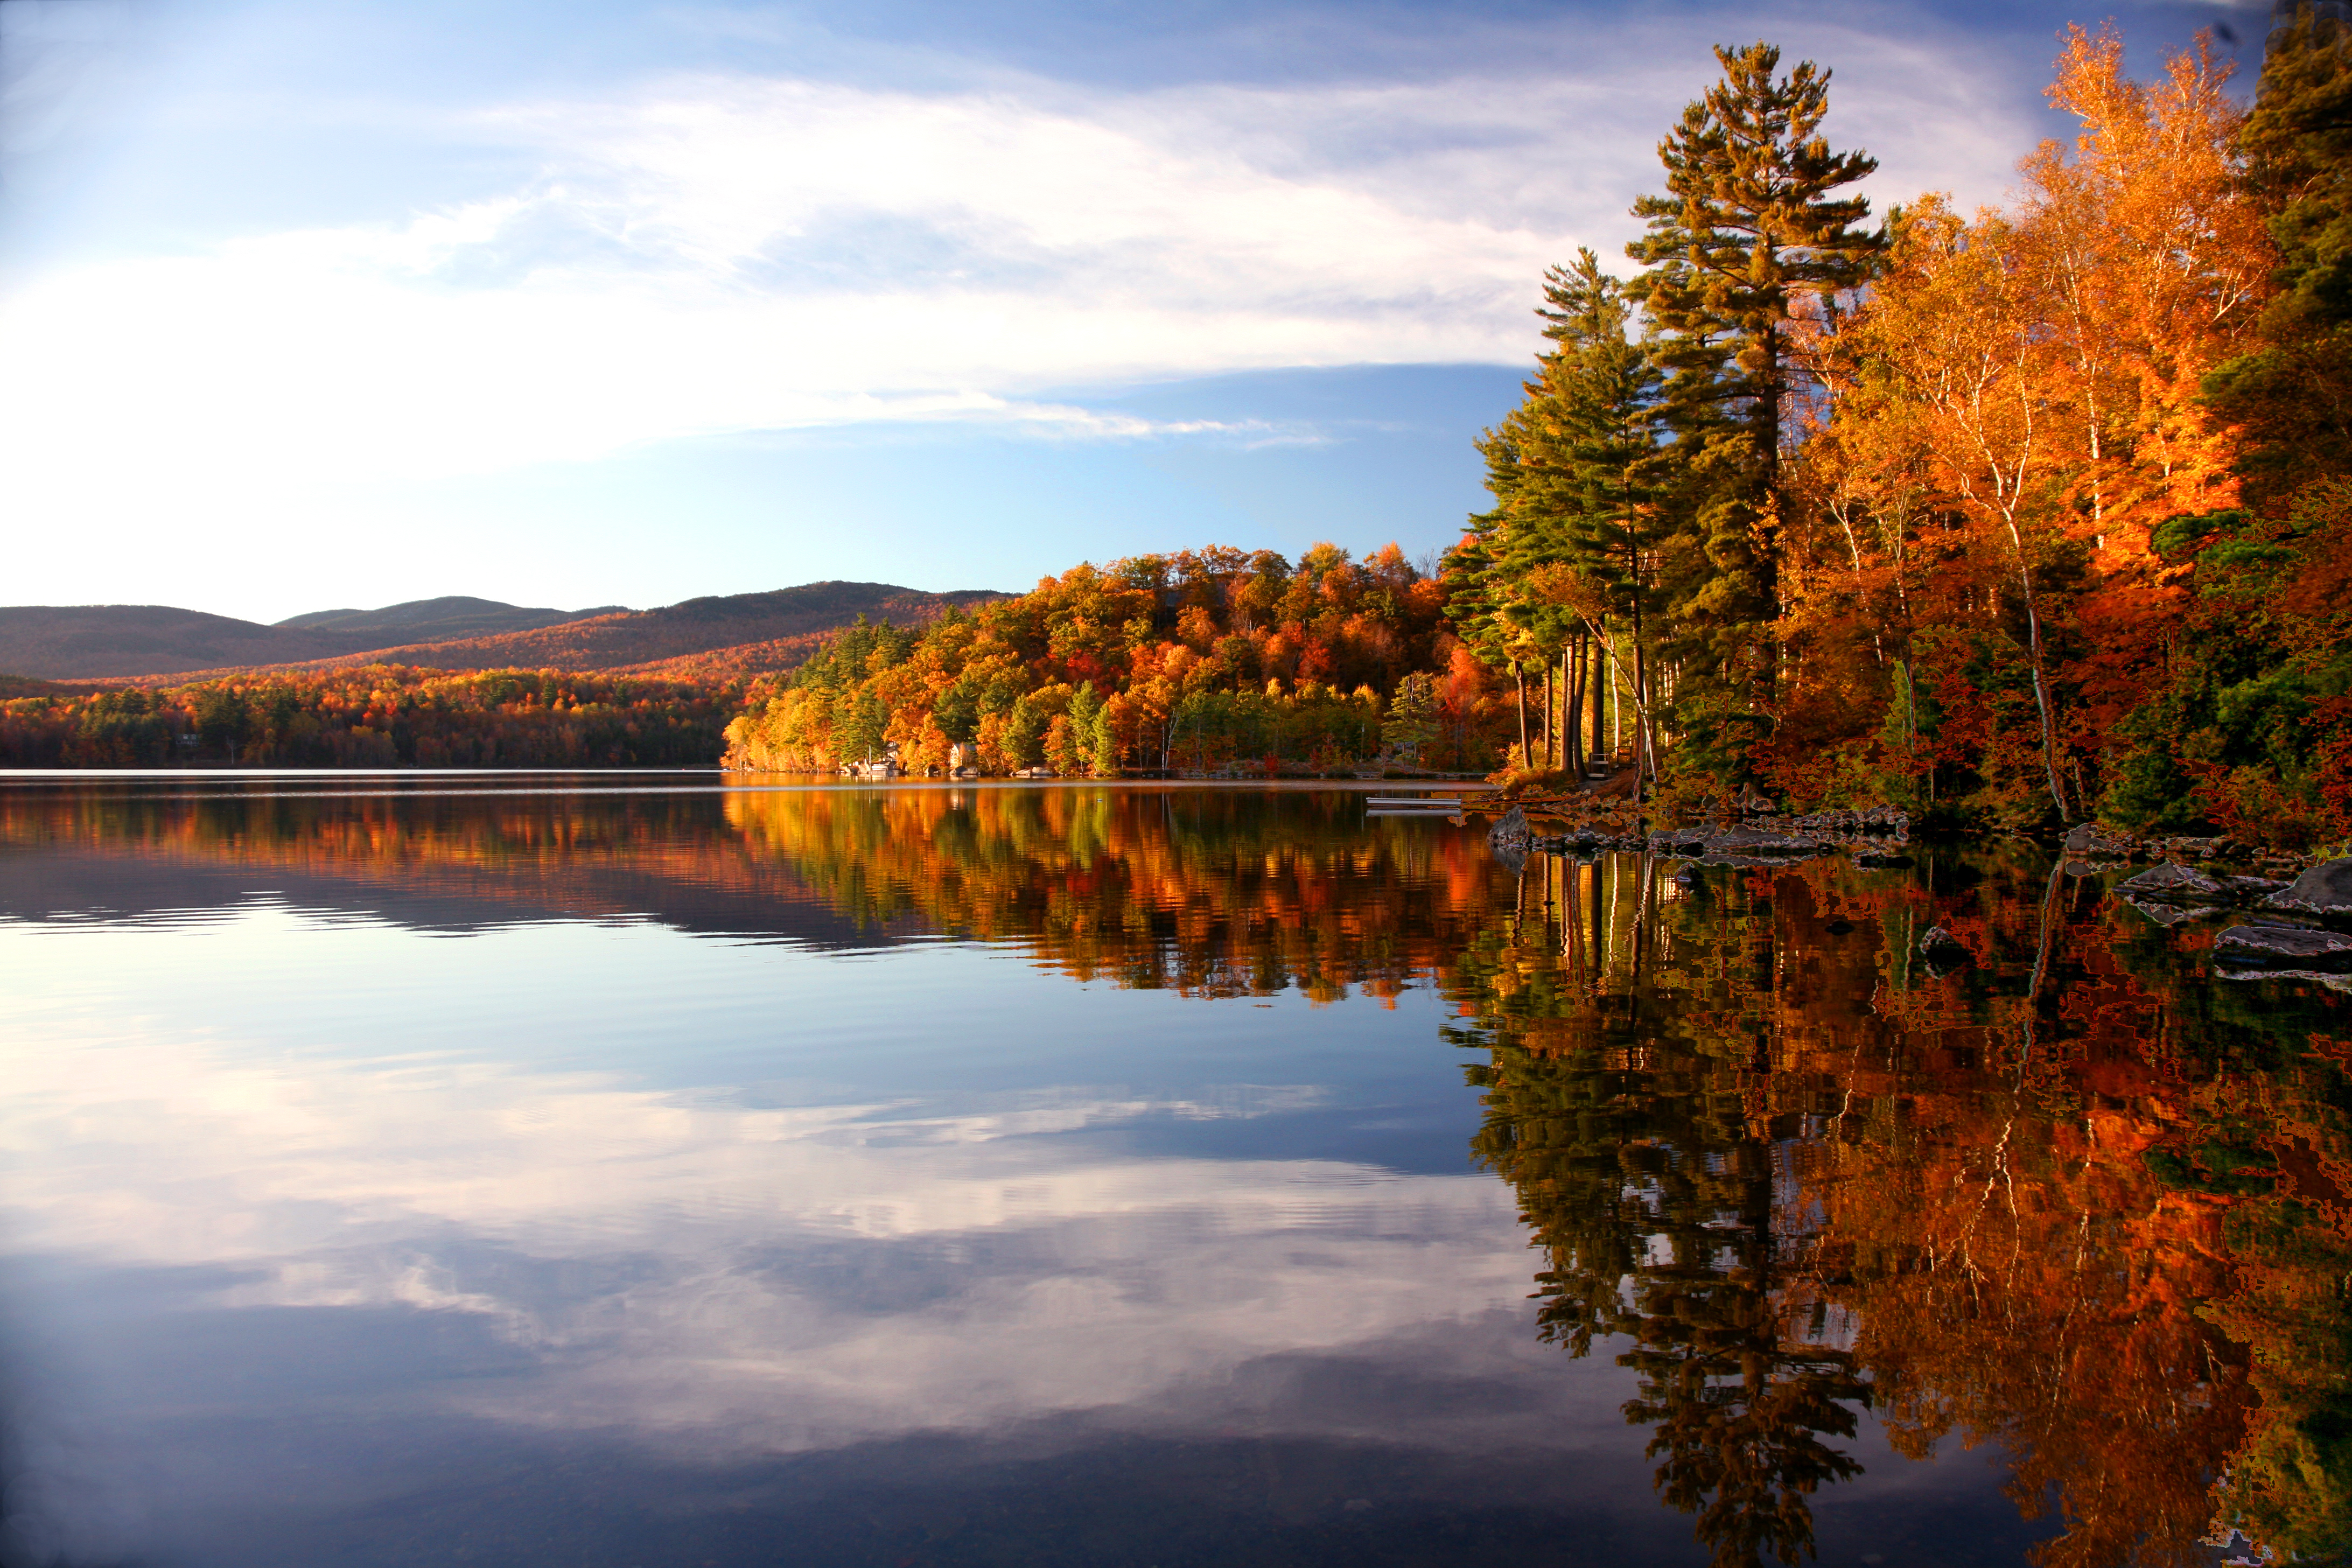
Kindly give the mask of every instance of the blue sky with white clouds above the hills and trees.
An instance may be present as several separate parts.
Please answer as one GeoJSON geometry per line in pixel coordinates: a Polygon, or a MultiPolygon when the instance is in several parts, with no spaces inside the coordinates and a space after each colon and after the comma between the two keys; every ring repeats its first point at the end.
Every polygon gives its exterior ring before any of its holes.
{"type": "Polygon", "coordinates": [[[2263,9],[7,0],[0,602],[1423,557],[1710,45],[1830,66],[1884,212],[2004,200],[2070,21],[2263,9]]]}

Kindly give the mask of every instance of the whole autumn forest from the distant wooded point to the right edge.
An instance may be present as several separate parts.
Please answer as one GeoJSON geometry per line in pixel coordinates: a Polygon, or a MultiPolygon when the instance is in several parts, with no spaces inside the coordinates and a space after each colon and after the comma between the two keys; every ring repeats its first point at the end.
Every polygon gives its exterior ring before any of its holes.
{"type": "Polygon", "coordinates": [[[2352,63],[2074,28],[2002,209],[1872,221],[1771,45],[1661,143],[1630,277],[1543,280],[1494,505],[1416,569],[1209,548],[858,628],[739,766],[1632,771],[1663,804],[2352,832],[2352,63]]]}

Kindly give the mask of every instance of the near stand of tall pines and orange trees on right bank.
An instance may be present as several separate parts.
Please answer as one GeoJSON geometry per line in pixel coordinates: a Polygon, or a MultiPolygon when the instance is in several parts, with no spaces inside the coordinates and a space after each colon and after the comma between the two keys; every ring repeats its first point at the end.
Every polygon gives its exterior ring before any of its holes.
{"type": "Polygon", "coordinates": [[[2206,38],[2136,82],[2074,28],[2072,143],[2006,209],[1877,226],[1828,73],[1717,56],[1635,207],[1644,270],[1545,277],[1465,639],[1630,708],[1668,792],[2352,830],[2336,26],[2277,35],[2251,110],[2206,38]]]}

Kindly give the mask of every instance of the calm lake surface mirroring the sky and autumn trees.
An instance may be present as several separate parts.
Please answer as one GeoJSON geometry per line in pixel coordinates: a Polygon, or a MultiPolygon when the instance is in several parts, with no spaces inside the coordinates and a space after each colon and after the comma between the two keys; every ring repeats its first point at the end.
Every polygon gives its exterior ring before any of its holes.
{"type": "Polygon", "coordinates": [[[14,1549],[2244,1559],[2347,999],[2025,842],[1912,858],[1515,867],[1336,788],[16,776],[14,1549]]]}

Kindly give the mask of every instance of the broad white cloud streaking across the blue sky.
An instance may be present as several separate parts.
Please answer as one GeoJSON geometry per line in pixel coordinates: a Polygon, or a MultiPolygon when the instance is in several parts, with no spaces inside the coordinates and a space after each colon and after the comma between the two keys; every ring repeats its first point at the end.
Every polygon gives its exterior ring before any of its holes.
{"type": "MultiPolygon", "coordinates": [[[[1992,195],[2025,146],[1990,63],[1804,40],[1886,195],[1992,195]]],[[[1795,54],[1795,49],[1792,49],[1795,54]]],[[[1103,94],[666,78],[468,115],[536,153],[494,200],[85,263],[0,315],[0,465],[52,524],[861,421],[1084,440],[1049,388],[1256,367],[1517,362],[1545,263],[1613,256],[1705,78],[1635,26],[1573,71],[1103,94]],[[1663,61],[1663,63],[1661,63],[1663,61]]]]}

